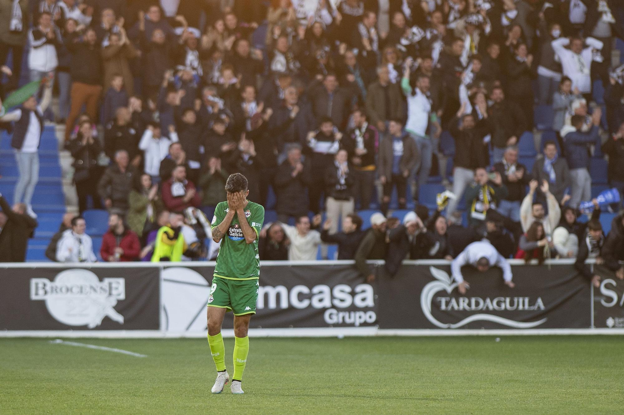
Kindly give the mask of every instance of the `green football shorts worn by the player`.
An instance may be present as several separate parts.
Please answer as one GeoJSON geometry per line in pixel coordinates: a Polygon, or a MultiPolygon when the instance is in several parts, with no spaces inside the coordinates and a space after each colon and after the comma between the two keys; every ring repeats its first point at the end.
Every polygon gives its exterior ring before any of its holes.
{"type": "Polygon", "coordinates": [[[255,314],[258,287],[258,279],[227,279],[215,275],[210,287],[208,307],[227,308],[234,315],[255,314]]]}

